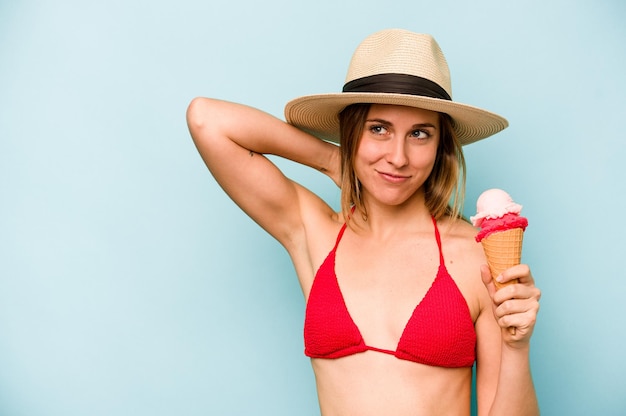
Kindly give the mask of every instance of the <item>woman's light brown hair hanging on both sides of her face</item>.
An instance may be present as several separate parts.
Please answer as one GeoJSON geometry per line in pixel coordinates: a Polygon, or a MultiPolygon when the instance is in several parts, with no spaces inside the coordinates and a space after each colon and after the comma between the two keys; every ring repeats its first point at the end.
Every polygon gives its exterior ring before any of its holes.
{"type": "MultiPolygon", "coordinates": [[[[361,182],[354,170],[367,114],[371,104],[352,104],[339,113],[341,145],[341,212],[348,221],[352,210],[367,219],[361,182]]],[[[439,146],[433,170],[424,183],[426,207],[435,219],[461,218],[465,197],[465,158],[456,138],[454,121],[439,113],[439,146]]]]}

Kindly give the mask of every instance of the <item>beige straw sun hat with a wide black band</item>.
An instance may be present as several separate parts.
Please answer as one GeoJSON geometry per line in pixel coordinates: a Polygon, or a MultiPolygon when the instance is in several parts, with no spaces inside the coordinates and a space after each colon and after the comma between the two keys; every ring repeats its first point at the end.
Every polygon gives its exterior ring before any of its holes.
{"type": "Polygon", "coordinates": [[[508,126],[497,114],[452,101],[448,64],[435,39],[402,29],[367,37],[352,56],[343,92],[296,98],[285,106],[285,118],[315,136],[338,143],[338,115],[356,103],[406,105],[447,113],[464,145],[508,126]]]}

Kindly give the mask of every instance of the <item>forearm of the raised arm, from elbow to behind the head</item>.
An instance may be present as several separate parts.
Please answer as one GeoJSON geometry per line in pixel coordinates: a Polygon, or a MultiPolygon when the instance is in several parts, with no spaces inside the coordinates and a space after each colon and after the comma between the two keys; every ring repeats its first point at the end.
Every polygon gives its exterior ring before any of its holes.
{"type": "Polygon", "coordinates": [[[241,104],[196,98],[187,120],[195,141],[228,139],[248,152],[277,155],[339,177],[337,146],[241,104]]]}

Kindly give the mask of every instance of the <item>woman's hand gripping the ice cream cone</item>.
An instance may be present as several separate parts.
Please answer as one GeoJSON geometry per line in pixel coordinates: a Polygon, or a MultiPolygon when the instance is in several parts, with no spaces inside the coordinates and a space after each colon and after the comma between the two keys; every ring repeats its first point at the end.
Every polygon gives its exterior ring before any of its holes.
{"type": "Polygon", "coordinates": [[[493,314],[502,328],[503,341],[511,346],[527,344],[535,327],[541,298],[530,268],[526,264],[518,264],[502,272],[498,276],[500,283],[515,279],[518,283],[501,289],[496,288],[487,265],[482,266],[481,275],[493,302],[493,314]]]}

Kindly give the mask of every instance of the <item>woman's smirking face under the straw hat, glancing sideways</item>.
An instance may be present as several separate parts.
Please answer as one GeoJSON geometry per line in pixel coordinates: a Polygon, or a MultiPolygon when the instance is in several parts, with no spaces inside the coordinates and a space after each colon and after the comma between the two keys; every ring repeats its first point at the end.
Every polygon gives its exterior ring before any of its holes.
{"type": "Polygon", "coordinates": [[[439,134],[437,112],[372,105],[354,159],[366,200],[400,205],[422,192],[435,164],[439,134]]]}

